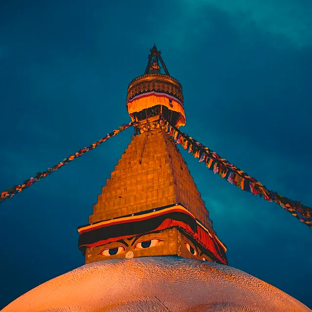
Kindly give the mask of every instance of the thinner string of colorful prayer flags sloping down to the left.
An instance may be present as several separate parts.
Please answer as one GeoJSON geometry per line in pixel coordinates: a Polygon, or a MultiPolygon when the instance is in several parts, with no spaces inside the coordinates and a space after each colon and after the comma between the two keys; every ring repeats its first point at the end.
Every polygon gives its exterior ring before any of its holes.
{"type": "Polygon", "coordinates": [[[77,153],[75,153],[74,155],[70,155],[67,158],[64,158],[61,162],[59,162],[57,165],[55,165],[52,168],[48,168],[47,171],[45,172],[38,172],[35,177],[31,177],[30,179],[24,181],[22,184],[20,185],[15,185],[14,187],[3,191],[0,194],[0,203],[4,200],[7,200],[8,198],[11,198],[12,196],[14,196],[17,193],[20,193],[22,190],[28,188],[29,186],[31,186],[32,184],[34,184],[37,181],[40,181],[43,177],[51,174],[53,171],[57,171],[60,167],[64,166],[65,164],[69,163],[70,161],[74,160],[75,158],[81,156],[82,154],[91,151],[93,149],[95,149],[99,144],[105,142],[107,139],[109,139],[110,137],[114,137],[116,136],[118,133],[120,133],[121,131],[129,128],[130,126],[133,125],[133,122],[129,122],[126,125],[122,125],[120,127],[118,127],[117,130],[114,130],[113,132],[107,134],[106,137],[102,137],[101,139],[99,139],[97,142],[92,143],[90,146],[88,147],[84,147],[81,150],[79,150],[77,153]]]}

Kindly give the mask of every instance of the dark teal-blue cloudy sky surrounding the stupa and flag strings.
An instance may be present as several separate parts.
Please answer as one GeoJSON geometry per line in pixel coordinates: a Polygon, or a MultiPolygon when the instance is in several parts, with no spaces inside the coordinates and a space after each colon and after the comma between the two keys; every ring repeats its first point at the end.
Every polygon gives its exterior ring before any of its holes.
{"type": "MultiPolygon", "coordinates": [[[[156,43],[183,86],[181,130],[311,207],[311,16],[308,0],[1,3],[0,189],[128,123],[128,83],[156,43]]],[[[132,134],[0,204],[0,308],[83,265],[77,227],[132,134]]],[[[182,155],[229,264],[312,307],[311,230],[182,155]]]]}

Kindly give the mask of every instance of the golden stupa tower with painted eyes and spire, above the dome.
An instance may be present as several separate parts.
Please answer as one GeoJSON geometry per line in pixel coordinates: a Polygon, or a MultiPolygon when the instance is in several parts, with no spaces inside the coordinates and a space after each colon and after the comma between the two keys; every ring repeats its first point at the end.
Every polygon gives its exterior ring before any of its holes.
{"type": "Polygon", "coordinates": [[[85,263],[176,255],[227,264],[186,162],[158,122],[163,116],[176,127],[185,125],[182,86],[155,45],[150,51],[145,74],[128,87],[135,135],[98,195],[89,224],[78,228],[78,246],[85,263]]]}

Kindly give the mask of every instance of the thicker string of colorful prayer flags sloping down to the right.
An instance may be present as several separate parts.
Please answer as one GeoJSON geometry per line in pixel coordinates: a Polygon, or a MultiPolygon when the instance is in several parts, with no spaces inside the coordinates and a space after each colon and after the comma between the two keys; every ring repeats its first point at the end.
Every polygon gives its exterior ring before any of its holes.
{"type": "Polygon", "coordinates": [[[278,195],[276,192],[268,190],[255,178],[247,175],[247,173],[238,169],[226,159],[221,158],[208,147],[195,141],[192,137],[189,137],[175,126],[172,126],[162,116],[159,119],[159,124],[170,137],[176,140],[176,143],[180,144],[184,149],[188,149],[188,152],[195,158],[199,158],[200,162],[205,162],[206,166],[215,174],[225,178],[239,189],[251,192],[254,195],[263,196],[265,200],[275,201],[312,229],[312,209],[310,207],[302,205],[299,201],[293,201],[287,197],[278,195]]]}

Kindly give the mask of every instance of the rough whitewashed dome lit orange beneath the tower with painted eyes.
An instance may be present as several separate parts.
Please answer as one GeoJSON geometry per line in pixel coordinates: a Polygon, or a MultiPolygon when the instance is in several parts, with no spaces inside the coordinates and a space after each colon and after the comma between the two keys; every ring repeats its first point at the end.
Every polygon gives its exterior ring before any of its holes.
{"type": "Polygon", "coordinates": [[[2,311],[311,312],[240,270],[174,256],[90,263],[39,285],[2,311]]]}

